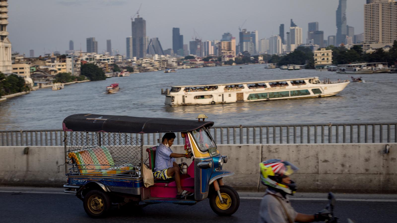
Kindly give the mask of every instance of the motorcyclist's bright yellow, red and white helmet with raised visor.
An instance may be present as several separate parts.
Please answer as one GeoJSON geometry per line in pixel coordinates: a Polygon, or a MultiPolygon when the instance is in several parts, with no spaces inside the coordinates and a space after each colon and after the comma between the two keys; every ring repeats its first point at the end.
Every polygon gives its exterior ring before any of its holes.
{"type": "Polygon", "coordinates": [[[285,184],[282,178],[293,174],[298,168],[289,161],[272,159],[266,160],[260,165],[260,179],[262,184],[276,190],[281,190],[287,194],[293,195],[297,190],[296,183],[291,180],[291,183],[285,184]]]}

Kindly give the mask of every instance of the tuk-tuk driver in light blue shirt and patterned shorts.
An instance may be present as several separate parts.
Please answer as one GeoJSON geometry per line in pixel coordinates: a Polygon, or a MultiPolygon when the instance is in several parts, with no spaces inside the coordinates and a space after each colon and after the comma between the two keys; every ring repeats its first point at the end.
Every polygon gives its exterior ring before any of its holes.
{"type": "Polygon", "coordinates": [[[186,196],[191,196],[193,193],[187,190],[182,190],[180,177],[181,168],[176,163],[175,158],[191,158],[191,155],[174,153],[171,150],[170,147],[172,146],[175,137],[175,133],[166,133],[162,138],[162,143],[157,146],[154,177],[163,180],[174,177],[178,191],[177,198],[184,198],[186,196]]]}

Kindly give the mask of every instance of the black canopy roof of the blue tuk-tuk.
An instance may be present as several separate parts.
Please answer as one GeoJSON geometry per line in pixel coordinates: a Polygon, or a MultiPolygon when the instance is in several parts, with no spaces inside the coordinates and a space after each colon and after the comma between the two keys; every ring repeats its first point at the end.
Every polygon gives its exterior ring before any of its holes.
{"type": "Polygon", "coordinates": [[[64,131],[108,133],[169,133],[189,132],[200,127],[211,127],[212,121],[145,118],[124,115],[75,114],[62,123],[64,131]]]}

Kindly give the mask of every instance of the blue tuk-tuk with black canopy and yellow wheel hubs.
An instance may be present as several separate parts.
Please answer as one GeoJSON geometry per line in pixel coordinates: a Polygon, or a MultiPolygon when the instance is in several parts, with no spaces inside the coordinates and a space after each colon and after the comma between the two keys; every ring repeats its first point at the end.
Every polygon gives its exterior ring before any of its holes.
{"type": "Polygon", "coordinates": [[[212,125],[214,122],[204,119],[70,115],[62,123],[67,176],[64,192],[81,199],[90,217],[103,217],[111,207],[131,203],[193,205],[206,198],[216,214],[232,215],[240,198],[222,181],[234,173],[222,169],[227,156],[221,156],[208,131],[212,125]],[[185,152],[193,158],[180,176],[183,190],[194,194],[183,199],[176,198],[173,178],[154,179],[154,185],[148,187],[143,182],[143,171],[147,167],[154,172],[156,158],[156,146],[144,151],[144,135],[156,133],[160,137],[160,133],[169,132],[181,134],[185,152]],[[148,158],[144,160],[146,152],[148,158]]]}

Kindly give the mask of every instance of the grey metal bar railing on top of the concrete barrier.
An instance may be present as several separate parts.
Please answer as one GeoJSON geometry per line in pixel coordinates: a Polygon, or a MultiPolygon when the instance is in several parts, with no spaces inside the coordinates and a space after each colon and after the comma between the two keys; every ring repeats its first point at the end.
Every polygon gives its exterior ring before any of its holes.
{"type": "MultiPolygon", "coordinates": [[[[397,142],[397,122],[214,126],[210,133],[216,144],[397,142]]],[[[156,145],[163,135],[144,134],[142,140],[156,145]]],[[[181,135],[176,135],[174,144],[183,144],[181,135]]],[[[63,141],[64,132],[58,129],[0,131],[0,146],[63,146],[63,141]]]]}

